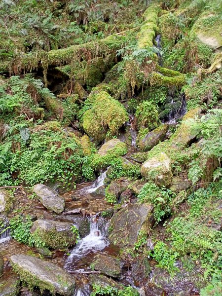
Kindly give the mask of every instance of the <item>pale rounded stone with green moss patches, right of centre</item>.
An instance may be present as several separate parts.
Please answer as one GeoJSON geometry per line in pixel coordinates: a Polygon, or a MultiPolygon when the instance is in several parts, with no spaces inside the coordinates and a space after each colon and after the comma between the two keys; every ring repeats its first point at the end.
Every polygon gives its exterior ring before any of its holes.
{"type": "Polygon", "coordinates": [[[141,167],[141,174],[148,181],[152,180],[159,186],[168,187],[173,178],[170,158],[161,152],[158,156],[148,159],[141,167]]]}

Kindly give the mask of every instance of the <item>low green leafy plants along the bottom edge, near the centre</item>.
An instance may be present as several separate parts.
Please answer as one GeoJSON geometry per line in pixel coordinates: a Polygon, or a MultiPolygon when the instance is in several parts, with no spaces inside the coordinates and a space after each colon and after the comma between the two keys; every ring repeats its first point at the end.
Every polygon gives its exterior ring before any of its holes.
{"type": "Polygon", "coordinates": [[[101,286],[99,284],[93,284],[93,292],[90,296],[97,295],[110,295],[110,296],[139,296],[139,293],[136,289],[132,287],[124,287],[121,289],[111,286],[101,286]]]}

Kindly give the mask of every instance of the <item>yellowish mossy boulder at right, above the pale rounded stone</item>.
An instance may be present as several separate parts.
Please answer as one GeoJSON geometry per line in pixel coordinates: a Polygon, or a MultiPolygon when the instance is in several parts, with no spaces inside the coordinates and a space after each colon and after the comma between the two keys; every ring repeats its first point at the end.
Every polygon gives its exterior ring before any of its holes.
{"type": "Polygon", "coordinates": [[[174,143],[181,144],[182,146],[190,145],[196,138],[199,131],[194,130],[189,119],[197,119],[200,114],[200,109],[192,109],[188,111],[183,117],[181,126],[177,129],[176,133],[171,138],[174,143]]]}

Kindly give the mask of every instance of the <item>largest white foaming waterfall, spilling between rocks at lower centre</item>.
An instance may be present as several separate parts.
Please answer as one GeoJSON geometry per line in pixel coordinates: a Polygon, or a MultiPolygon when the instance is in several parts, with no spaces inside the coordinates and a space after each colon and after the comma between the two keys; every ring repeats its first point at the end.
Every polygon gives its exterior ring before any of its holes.
{"type": "Polygon", "coordinates": [[[102,217],[96,217],[96,215],[88,219],[90,221],[90,233],[77,243],[68,257],[65,264],[68,270],[69,265],[72,265],[74,260],[85,257],[89,253],[101,251],[110,244],[107,240],[109,223],[102,217]]]}

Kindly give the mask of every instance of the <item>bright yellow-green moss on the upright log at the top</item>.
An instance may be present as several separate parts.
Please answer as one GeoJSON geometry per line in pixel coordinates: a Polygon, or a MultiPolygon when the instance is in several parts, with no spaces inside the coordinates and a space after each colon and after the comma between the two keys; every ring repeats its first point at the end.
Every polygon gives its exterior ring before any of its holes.
{"type": "Polygon", "coordinates": [[[138,48],[146,49],[147,47],[153,46],[153,38],[158,31],[157,20],[158,7],[148,7],[148,9],[144,12],[144,23],[138,33],[138,48]]]}

